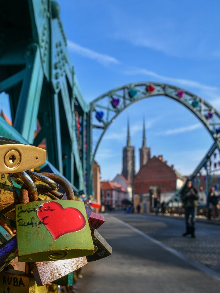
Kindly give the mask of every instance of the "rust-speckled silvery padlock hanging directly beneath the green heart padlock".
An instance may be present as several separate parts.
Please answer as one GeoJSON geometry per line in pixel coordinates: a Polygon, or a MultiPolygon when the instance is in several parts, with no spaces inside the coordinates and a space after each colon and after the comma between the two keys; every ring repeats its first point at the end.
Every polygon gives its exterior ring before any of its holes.
{"type": "Polygon", "coordinates": [[[48,283],[62,283],[58,285],[70,286],[68,283],[71,282],[71,276],[68,277],[68,274],[71,274],[73,271],[86,264],[86,257],[83,256],[75,259],[64,259],[50,262],[31,262],[31,269],[38,286],[48,283]],[[57,280],[60,278],[62,278],[62,280],[57,280]]]}

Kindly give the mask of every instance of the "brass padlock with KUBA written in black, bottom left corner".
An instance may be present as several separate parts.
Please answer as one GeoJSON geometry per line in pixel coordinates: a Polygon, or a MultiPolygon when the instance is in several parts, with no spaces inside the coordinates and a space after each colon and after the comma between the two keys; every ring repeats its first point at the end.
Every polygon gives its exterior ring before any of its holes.
{"type": "Polygon", "coordinates": [[[0,288],[5,293],[46,293],[46,286],[38,287],[36,285],[29,263],[26,263],[25,272],[16,269],[2,270],[0,288]]]}

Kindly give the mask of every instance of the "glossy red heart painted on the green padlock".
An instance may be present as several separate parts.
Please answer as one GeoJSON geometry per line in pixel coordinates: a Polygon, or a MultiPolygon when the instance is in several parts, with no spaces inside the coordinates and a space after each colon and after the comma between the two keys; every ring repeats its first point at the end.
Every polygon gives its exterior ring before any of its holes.
{"type": "Polygon", "coordinates": [[[37,216],[54,240],[86,226],[86,219],[77,208],[63,208],[56,201],[42,203],[37,209],[37,216]]]}

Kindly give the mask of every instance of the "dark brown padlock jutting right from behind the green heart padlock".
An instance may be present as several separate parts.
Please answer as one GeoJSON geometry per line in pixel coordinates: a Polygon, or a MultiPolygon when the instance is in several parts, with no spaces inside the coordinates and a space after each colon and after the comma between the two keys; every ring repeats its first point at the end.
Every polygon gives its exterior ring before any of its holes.
{"type": "Polygon", "coordinates": [[[97,232],[96,229],[92,229],[92,239],[94,247],[97,247],[96,251],[93,255],[88,255],[87,261],[93,262],[98,259],[103,259],[106,256],[109,256],[112,254],[112,247],[108,244],[107,241],[101,236],[100,233],[97,232]]]}

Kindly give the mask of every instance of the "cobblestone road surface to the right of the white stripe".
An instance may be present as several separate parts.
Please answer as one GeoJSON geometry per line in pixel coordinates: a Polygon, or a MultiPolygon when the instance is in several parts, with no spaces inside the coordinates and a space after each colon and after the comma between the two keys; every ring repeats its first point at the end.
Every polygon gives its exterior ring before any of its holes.
{"type": "Polygon", "coordinates": [[[181,219],[154,215],[113,213],[116,218],[220,273],[220,226],[196,222],[196,238],[182,237],[181,219]]]}

